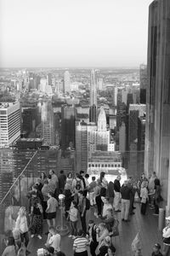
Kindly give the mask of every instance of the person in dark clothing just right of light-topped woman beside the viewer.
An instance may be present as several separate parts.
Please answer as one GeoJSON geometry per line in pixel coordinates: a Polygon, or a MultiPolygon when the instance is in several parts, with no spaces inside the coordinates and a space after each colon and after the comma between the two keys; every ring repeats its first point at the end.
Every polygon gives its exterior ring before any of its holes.
{"type": "Polygon", "coordinates": [[[87,227],[86,227],[86,196],[84,196],[82,190],[80,190],[78,192],[78,199],[79,199],[78,209],[79,209],[79,212],[80,212],[82,230],[86,234],[87,233],[87,227]]]}

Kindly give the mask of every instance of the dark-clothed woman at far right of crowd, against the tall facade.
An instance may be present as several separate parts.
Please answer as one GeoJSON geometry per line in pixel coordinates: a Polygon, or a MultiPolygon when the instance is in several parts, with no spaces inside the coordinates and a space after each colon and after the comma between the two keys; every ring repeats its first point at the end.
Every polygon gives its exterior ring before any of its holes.
{"type": "Polygon", "coordinates": [[[155,207],[155,213],[154,215],[159,214],[159,204],[162,201],[161,197],[161,184],[159,178],[156,178],[154,180],[155,187],[154,187],[154,207],[155,207]]]}

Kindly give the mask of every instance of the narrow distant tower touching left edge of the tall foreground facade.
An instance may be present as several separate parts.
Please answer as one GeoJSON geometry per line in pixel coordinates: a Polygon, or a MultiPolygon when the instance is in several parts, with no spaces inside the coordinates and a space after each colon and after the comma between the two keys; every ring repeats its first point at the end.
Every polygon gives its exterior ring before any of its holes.
{"type": "Polygon", "coordinates": [[[141,64],[139,67],[139,79],[140,79],[140,103],[146,103],[146,88],[147,88],[147,66],[141,64]]]}

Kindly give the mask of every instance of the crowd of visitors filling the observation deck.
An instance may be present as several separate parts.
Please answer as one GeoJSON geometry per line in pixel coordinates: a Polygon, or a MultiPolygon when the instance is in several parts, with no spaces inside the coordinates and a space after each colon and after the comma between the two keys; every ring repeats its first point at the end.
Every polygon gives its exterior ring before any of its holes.
{"type": "MultiPolygon", "coordinates": [[[[88,247],[92,256],[116,255],[113,242],[113,237],[119,236],[119,220],[116,218],[116,212],[120,212],[122,222],[127,223],[135,214],[136,196],[141,202],[140,212],[143,215],[146,214],[148,205],[155,210],[154,214],[158,214],[159,204],[162,201],[161,184],[155,172],[150,179],[143,174],[138,182],[134,181],[133,177],[128,177],[121,185],[121,176],[118,175],[114,182],[108,183],[105,172],[101,172],[98,179],[92,177],[89,181],[89,175],[82,171],[76,173],[75,177],[72,173],[66,177],[61,170],[57,177],[54,171],[50,170],[48,175],[42,173],[29,191],[27,211],[25,207],[20,207],[13,234],[8,237],[3,256],[28,255],[29,232],[31,238],[37,236],[41,240],[43,220],[47,220],[48,224],[48,230],[45,232],[47,235],[47,242],[44,245],[45,255],[65,256],[65,253],[60,251],[61,237],[56,230],[59,194],[65,195],[65,219],[70,222],[69,237],[73,239],[75,256],[87,256],[88,247]],[[90,219],[87,226],[87,212],[90,207],[94,207],[94,216],[98,221],[95,223],[94,219],[90,219]],[[79,230],[78,220],[82,225],[79,230]]],[[[167,227],[163,231],[164,238],[170,237],[170,225],[167,227]]],[[[168,253],[168,242],[167,240],[163,242],[166,247],[163,250],[168,253]]],[[[162,255],[160,249],[161,246],[156,243],[152,256],[162,255]]],[[[135,255],[142,254],[135,252],[135,255]]]]}

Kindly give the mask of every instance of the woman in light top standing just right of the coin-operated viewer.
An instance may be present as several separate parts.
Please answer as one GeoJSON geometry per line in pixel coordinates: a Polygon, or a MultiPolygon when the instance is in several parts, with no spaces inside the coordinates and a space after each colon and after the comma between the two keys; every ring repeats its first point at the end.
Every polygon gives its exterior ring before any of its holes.
{"type": "Polygon", "coordinates": [[[69,237],[72,237],[73,239],[77,236],[77,220],[78,220],[78,207],[77,202],[72,201],[69,217],[70,217],[70,223],[71,223],[71,235],[69,237]]]}

